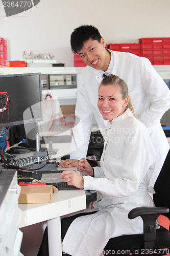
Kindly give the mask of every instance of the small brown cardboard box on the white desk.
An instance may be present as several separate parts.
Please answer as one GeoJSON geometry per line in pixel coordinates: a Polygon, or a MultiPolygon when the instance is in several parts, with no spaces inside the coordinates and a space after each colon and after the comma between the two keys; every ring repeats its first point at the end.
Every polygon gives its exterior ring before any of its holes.
{"type": "Polygon", "coordinates": [[[19,204],[50,203],[58,189],[52,185],[21,186],[19,204]]]}

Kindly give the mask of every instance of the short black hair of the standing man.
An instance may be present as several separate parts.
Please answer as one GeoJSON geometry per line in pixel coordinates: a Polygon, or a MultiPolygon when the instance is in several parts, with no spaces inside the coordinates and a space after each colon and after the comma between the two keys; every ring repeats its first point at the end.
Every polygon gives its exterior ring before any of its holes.
{"type": "Polygon", "coordinates": [[[71,50],[74,53],[77,53],[83,48],[83,45],[85,41],[87,41],[89,38],[92,40],[98,40],[101,42],[101,34],[99,33],[99,30],[91,25],[83,25],[79,28],[76,28],[71,33],[70,43],[71,43],[71,50]]]}

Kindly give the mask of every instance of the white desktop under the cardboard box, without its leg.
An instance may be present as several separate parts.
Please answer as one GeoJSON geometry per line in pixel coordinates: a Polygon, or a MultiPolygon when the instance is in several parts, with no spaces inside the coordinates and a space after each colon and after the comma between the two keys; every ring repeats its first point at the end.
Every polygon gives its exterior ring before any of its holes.
{"type": "Polygon", "coordinates": [[[86,195],[82,189],[60,190],[51,203],[19,204],[22,211],[19,228],[64,216],[86,208],[86,195]]]}

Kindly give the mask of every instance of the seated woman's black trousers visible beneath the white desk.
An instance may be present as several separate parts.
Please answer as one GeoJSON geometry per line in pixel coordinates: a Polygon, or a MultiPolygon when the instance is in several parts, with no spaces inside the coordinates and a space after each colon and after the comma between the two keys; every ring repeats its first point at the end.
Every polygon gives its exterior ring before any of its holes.
{"type": "MultiPolygon", "coordinates": [[[[71,225],[71,223],[77,219],[80,216],[85,216],[85,215],[90,215],[90,214],[94,214],[96,211],[92,211],[92,212],[85,212],[85,213],[81,213],[81,214],[77,214],[74,216],[70,216],[67,218],[63,218],[61,219],[61,239],[63,241],[65,234],[69,228],[69,226],[71,225]]],[[[80,227],[81,228],[81,227],[80,227]]],[[[63,252],[62,254],[63,256],[70,256],[69,254],[63,252]]],[[[49,256],[48,254],[48,233],[47,233],[47,227],[44,230],[44,234],[43,234],[43,238],[42,238],[42,242],[38,251],[37,256],[49,256]]],[[[56,255],[58,256],[58,255],[56,255]]]]}

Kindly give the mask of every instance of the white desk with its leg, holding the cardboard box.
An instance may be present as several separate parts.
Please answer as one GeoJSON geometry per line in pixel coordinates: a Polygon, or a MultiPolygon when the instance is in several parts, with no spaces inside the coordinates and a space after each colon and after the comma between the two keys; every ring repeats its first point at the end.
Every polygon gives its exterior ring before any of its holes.
{"type": "Polygon", "coordinates": [[[42,221],[48,225],[49,255],[62,255],[60,217],[86,208],[84,190],[63,190],[53,195],[51,203],[19,204],[19,228],[42,221]]]}

